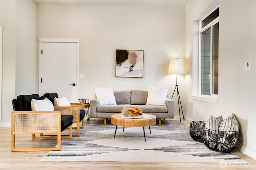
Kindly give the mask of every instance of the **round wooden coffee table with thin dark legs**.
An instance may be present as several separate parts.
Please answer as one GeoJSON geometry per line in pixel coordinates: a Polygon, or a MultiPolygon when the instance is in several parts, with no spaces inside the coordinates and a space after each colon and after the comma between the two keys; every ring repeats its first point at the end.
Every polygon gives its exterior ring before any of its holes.
{"type": "MultiPolygon", "coordinates": [[[[150,130],[150,126],[153,126],[156,124],[156,116],[155,115],[151,115],[151,114],[147,114],[150,115],[152,118],[135,118],[135,119],[124,119],[122,117],[120,117],[120,113],[118,114],[114,114],[111,115],[111,124],[116,125],[116,129],[117,126],[123,126],[123,127],[143,127],[143,133],[144,133],[144,139],[146,141],[146,136],[145,136],[145,130],[144,127],[148,126],[149,130],[150,130]]],[[[150,130],[151,133],[151,130],[150,130]]],[[[114,139],[116,136],[116,131],[114,134],[114,139]]]]}

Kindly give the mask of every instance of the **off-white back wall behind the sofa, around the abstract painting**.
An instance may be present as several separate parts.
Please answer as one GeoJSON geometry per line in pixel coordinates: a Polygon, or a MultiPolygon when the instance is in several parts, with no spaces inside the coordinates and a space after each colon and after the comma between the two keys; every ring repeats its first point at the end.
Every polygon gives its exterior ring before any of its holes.
{"type": "Polygon", "coordinates": [[[37,35],[80,39],[85,78],[79,98],[94,98],[94,86],[116,91],[169,86],[171,96],[176,76],[168,75],[168,64],[184,58],[184,11],[184,6],[38,5],[37,35]],[[144,50],[143,78],[115,77],[116,49],[144,50]]]}

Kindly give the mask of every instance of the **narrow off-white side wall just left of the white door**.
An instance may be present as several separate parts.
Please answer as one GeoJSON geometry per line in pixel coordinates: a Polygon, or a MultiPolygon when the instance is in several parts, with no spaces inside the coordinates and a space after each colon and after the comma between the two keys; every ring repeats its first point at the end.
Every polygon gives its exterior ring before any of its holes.
{"type": "Polygon", "coordinates": [[[16,1],[16,89],[21,94],[37,94],[38,54],[36,40],[36,3],[16,1]]]}

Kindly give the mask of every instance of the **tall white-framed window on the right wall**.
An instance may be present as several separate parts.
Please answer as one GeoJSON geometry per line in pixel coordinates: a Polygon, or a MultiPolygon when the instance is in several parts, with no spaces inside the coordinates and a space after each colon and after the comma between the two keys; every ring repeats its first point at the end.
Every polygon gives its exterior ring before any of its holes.
{"type": "Polygon", "coordinates": [[[200,95],[218,95],[219,8],[199,23],[200,95]]]}

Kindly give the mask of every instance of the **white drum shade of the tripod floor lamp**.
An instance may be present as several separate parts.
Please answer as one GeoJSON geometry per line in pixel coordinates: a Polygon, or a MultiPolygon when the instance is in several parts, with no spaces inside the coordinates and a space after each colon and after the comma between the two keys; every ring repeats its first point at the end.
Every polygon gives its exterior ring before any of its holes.
{"type": "Polygon", "coordinates": [[[170,59],[168,74],[186,74],[184,59],[170,59]]]}

